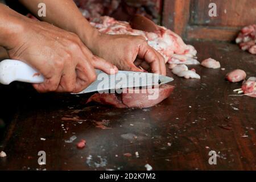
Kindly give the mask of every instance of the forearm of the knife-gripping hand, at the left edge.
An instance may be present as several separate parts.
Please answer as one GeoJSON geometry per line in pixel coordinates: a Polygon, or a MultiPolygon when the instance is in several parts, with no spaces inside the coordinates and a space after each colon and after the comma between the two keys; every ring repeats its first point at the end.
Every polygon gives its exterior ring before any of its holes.
{"type": "Polygon", "coordinates": [[[25,18],[0,3],[0,46],[11,49],[24,30],[25,18]]]}

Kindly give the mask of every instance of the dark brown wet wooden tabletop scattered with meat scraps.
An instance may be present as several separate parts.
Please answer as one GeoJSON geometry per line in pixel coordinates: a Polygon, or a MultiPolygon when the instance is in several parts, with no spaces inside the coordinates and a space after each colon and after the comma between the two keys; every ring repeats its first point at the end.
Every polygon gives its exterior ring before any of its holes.
{"type": "Polygon", "coordinates": [[[0,169],[144,170],[150,164],[155,170],[255,170],[256,100],[229,96],[241,83],[224,77],[236,68],[255,76],[256,57],[229,43],[192,44],[199,60],[213,57],[226,70],[191,66],[201,80],[174,76],[174,93],[148,109],[85,105],[88,94],[38,94],[28,84],[1,85],[0,151],[7,158],[0,158],[0,169]],[[73,135],[77,139],[66,143],[73,135]],[[80,139],[87,142],[81,150],[80,139]],[[208,163],[210,150],[218,154],[217,165],[208,163]],[[44,166],[39,151],[46,151],[44,166]]]}

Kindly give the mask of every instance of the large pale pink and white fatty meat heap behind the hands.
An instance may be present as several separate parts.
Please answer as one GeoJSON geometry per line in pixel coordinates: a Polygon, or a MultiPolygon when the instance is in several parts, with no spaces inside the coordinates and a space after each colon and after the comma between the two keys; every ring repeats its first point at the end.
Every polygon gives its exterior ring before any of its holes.
{"type": "Polygon", "coordinates": [[[165,27],[156,32],[133,29],[128,22],[120,22],[109,16],[93,19],[90,22],[98,31],[105,34],[141,35],[147,43],[156,49],[169,64],[200,64],[196,60],[196,49],[186,45],[179,35],[165,27]]]}

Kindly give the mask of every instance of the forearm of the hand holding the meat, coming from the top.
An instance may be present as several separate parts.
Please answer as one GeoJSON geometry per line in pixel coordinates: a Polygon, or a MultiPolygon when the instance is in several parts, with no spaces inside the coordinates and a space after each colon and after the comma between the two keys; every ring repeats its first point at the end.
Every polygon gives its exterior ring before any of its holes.
{"type": "Polygon", "coordinates": [[[38,4],[46,4],[46,17],[38,17],[57,27],[79,35],[82,41],[91,48],[91,43],[98,36],[98,31],[90,26],[72,0],[19,0],[34,15],[38,16],[38,4]]]}

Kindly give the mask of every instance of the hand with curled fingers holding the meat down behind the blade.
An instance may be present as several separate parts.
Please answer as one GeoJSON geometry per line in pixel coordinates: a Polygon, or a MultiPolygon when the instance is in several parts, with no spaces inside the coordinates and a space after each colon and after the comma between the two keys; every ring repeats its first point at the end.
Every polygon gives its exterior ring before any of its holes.
{"type": "Polygon", "coordinates": [[[94,55],[114,64],[119,70],[141,72],[137,66],[152,73],[166,75],[162,55],[150,47],[142,36],[100,34],[90,47],[94,55]]]}

